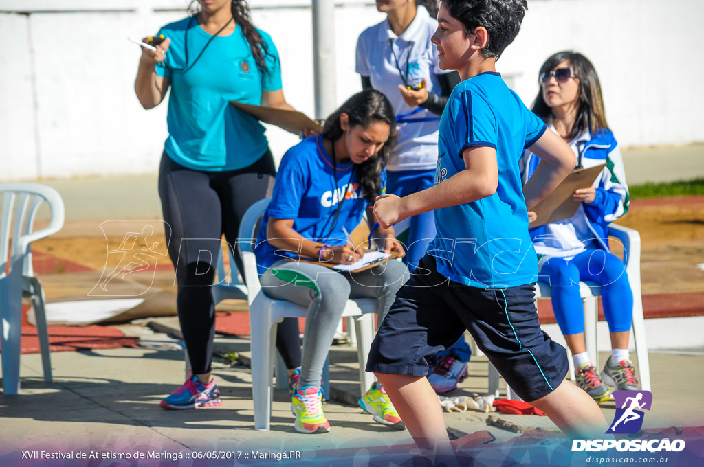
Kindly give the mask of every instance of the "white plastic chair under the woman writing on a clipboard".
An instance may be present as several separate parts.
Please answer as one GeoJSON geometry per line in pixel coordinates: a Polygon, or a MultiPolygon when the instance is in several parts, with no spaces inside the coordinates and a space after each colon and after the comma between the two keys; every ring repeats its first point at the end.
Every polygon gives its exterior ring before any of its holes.
{"type": "MultiPolygon", "coordinates": [[[[239,250],[244,264],[244,279],[249,301],[249,326],[251,331],[252,398],[254,402],[254,428],[269,430],[273,397],[272,376],[275,364],[276,326],[284,317],[305,317],[306,308],[286,300],[274,300],[261,290],[257,274],[253,241],[256,241],[258,220],[269,205],[270,198],[253,204],[241,221],[239,228],[239,250]]],[[[301,274],[303,276],[303,274],[301,274]]],[[[309,281],[312,281],[308,278],[309,281]]],[[[364,394],[374,380],[367,373],[367,355],[374,333],[373,319],[377,311],[377,300],[359,298],[347,300],[342,316],[353,316],[357,335],[359,356],[360,391],[364,394]]]]}

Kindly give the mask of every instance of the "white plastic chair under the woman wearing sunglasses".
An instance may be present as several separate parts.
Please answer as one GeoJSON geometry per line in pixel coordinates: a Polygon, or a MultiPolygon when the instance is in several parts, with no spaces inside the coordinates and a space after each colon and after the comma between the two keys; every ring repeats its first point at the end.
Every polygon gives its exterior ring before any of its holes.
{"type": "MultiPolygon", "coordinates": [[[[641,293],[641,234],[628,227],[617,224],[610,224],[608,233],[617,238],[623,245],[622,258],[628,280],[633,292],[633,324],[632,335],[636,345],[636,357],[638,358],[638,374],[641,388],[650,390],[650,363],[648,362],[648,344],[646,343],[646,325],[643,318],[643,295],[641,293]]],[[[550,297],[551,286],[549,283],[539,281],[536,285],[535,297],[550,297]]],[[[586,341],[586,351],[593,359],[594,366],[601,368],[598,362],[598,347],[596,324],[598,322],[598,296],[601,295],[602,287],[592,281],[582,281],[579,283],[579,293],[582,296],[582,307],[584,307],[584,340],[586,341]]],[[[567,349],[567,357],[570,362],[570,379],[574,375],[574,362],[567,349]]],[[[494,365],[489,364],[489,392],[498,396],[498,371],[494,365]]],[[[513,391],[508,390],[509,399],[513,396],[513,391]]]]}

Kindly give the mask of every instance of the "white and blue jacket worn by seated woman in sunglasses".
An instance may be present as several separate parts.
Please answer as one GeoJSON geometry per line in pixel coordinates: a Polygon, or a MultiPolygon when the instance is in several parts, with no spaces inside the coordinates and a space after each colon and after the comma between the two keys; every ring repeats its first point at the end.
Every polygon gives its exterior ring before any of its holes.
{"type": "MultiPolygon", "coordinates": [[[[552,124],[549,128],[555,131],[552,124]]],[[[578,168],[601,164],[606,166],[601,177],[594,181],[596,198],[593,203],[582,203],[570,219],[530,229],[539,255],[572,257],[586,248],[596,248],[597,245],[609,251],[608,224],[628,211],[630,199],[623,158],[612,132],[608,129],[594,133],[585,130],[570,141],[570,148],[577,155],[578,168]]],[[[523,184],[531,177],[539,162],[538,156],[525,151],[520,160],[523,184]]]]}

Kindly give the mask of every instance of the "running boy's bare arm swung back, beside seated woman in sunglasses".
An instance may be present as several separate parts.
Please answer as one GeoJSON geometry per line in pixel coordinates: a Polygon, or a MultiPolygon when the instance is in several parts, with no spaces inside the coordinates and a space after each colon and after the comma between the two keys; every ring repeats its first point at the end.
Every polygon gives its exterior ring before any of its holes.
{"type": "Polygon", "coordinates": [[[560,136],[549,130],[529,150],[541,159],[535,172],[523,186],[526,206],[528,210],[532,210],[574,169],[577,158],[570,146],[567,146],[560,136]]]}

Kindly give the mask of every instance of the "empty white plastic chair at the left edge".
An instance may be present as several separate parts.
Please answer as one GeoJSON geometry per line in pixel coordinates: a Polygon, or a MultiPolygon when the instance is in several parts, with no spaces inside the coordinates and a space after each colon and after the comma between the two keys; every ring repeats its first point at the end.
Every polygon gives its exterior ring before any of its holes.
{"type": "Polygon", "coordinates": [[[44,380],[51,381],[49,331],[44,312],[44,290],[34,276],[30,244],[63,227],[63,200],[54,188],[39,184],[0,184],[0,345],[5,394],[20,390],[20,338],[22,298],[31,298],[37,318],[44,380]],[[34,218],[42,203],[51,210],[49,225],[34,231],[34,218]]]}

